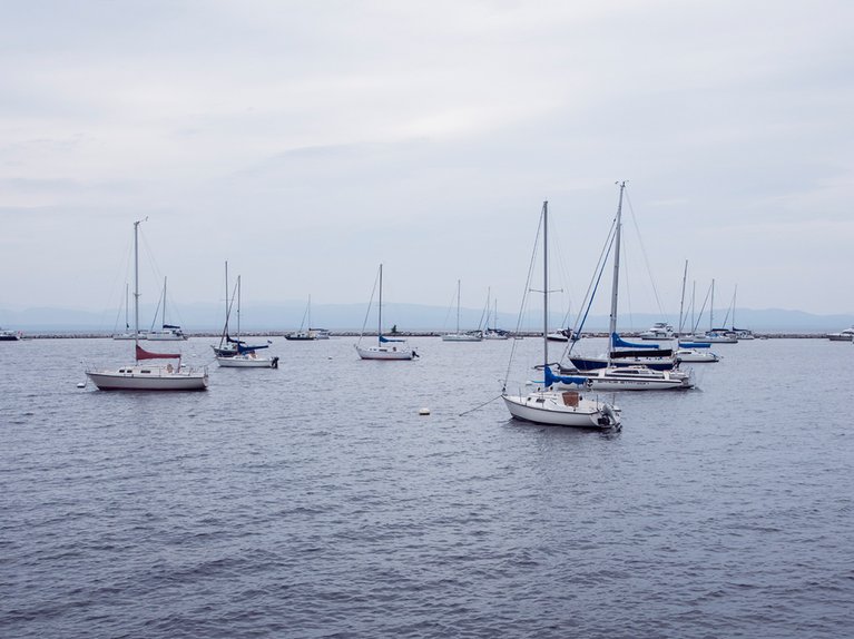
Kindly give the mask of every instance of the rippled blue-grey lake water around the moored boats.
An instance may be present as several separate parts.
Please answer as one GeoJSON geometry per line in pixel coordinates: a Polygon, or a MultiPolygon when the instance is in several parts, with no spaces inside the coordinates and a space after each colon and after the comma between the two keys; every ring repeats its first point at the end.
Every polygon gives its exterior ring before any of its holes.
{"type": "Polygon", "coordinates": [[[76,387],[128,343],[0,344],[0,636],[852,636],[851,344],[719,345],[601,434],[461,416],[511,343],[411,343],[184,394],[76,387]]]}

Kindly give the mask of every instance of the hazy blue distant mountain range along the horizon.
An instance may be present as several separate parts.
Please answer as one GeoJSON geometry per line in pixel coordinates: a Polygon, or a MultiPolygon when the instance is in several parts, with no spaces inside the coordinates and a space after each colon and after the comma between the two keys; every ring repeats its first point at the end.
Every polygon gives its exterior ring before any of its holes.
{"type": "MultiPolygon", "coordinates": [[[[217,332],[223,325],[223,307],[216,304],[192,304],[177,309],[176,316],[167,318],[180,324],[185,332],[217,332]]],[[[365,321],[366,304],[316,304],[312,305],[312,327],[330,328],[332,331],[360,331],[365,321]]],[[[144,328],[150,325],[155,308],[144,307],[140,317],[146,317],[144,328]]],[[[305,313],[305,302],[285,302],[281,304],[247,304],[242,311],[242,327],[246,332],[294,331],[300,327],[305,313]]],[[[474,328],[482,324],[482,309],[463,308],[460,327],[474,328]]],[[[541,312],[540,312],[541,313],[541,312]]],[[[542,322],[541,314],[531,309],[522,324],[523,331],[538,331],[542,322]]],[[[717,311],[717,317],[724,317],[725,311],[717,311]]],[[[803,311],[785,311],[781,308],[736,309],[739,328],[750,328],[755,332],[767,333],[828,333],[854,325],[854,315],[815,315],[803,311]]],[[[28,308],[10,311],[0,308],[0,320],[3,328],[23,331],[24,333],[112,333],[124,327],[124,316],[117,324],[116,311],[94,313],[69,308],[28,308]]],[[[678,316],[652,315],[635,313],[630,317],[621,317],[620,331],[645,331],[654,322],[678,323],[678,316]]],[[[562,316],[554,315],[551,325],[559,327],[562,316]]],[[[367,320],[367,331],[375,331],[376,315],[372,312],[367,320]]],[[[501,328],[514,330],[517,315],[499,313],[498,325],[501,328]]],[[[453,331],[457,326],[457,312],[448,308],[420,304],[389,304],[383,306],[383,325],[385,330],[393,325],[399,331],[453,331]]],[[[236,317],[232,318],[232,327],[236,326],[236,317]]],[[[707,328],[701,326],[701,330],[707,328]]],[[[607,316],[591,316],[585,326],[586,331],[602,332],[608,328],[607,316]]]]}

